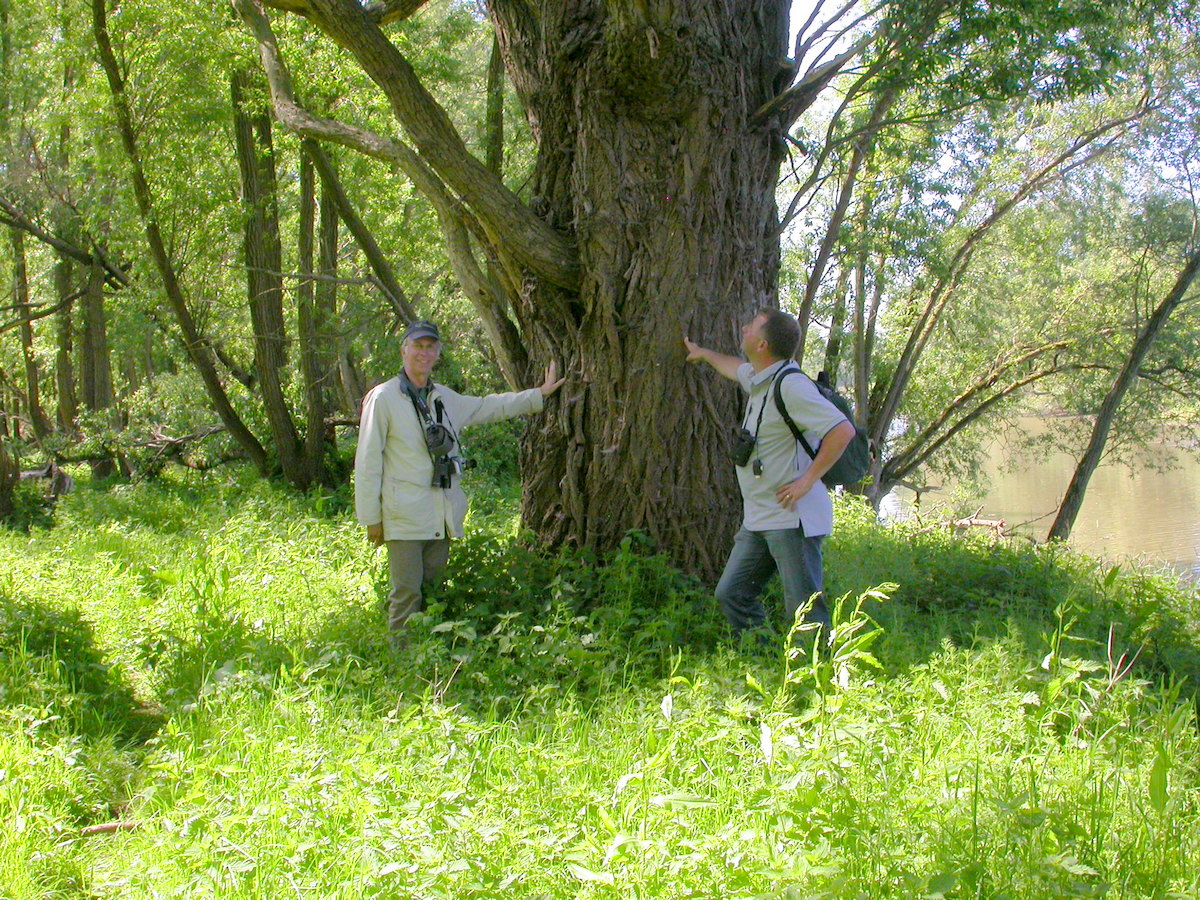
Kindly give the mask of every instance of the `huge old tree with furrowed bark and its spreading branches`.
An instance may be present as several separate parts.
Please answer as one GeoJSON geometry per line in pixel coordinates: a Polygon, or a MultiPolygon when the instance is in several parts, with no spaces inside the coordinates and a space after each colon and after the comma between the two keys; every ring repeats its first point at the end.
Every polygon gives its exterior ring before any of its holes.
{"type": "MultiPolygon", "coordinates": [[[[888,97],[944,71],[947,53],[982,47],[980,72],[1020,90],[1032,70],[1014,56],[1070,56],[1055,40],[1080,24],[1070,16],[1117,6],[1091,0],[1030,25],[1027,2],[829,2],[790,48],[790,0],[488,0],[536,144],[518,196],[389,40],[425,0],[234,5],[284,125],[392,161],[428,198],[502,368],[528,384],[551,359],[565,367],[524,446],[527,524],[600,548],[642,529],[702,572],[724,558],[736,515],[722,450],[738,409],[720,379],[684,365],[680,337],[733,350],[738,323],[778,301],[776,182],[797,116],[852,60],[848,92],[888,97]],[[344,48],[406,139],[306,109],[310,85],[293,86],[268,10],[344,48]]],[[[866,128],[884,125],[878,106],[866,128]]]]}

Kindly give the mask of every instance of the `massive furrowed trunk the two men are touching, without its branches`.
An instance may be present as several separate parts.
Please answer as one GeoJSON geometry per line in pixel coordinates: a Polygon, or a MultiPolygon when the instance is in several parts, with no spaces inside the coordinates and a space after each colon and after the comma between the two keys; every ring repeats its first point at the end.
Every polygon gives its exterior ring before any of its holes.
{"type": "Polygon", "coordinates": [[[600,548],[640,529],[712,576],[739,509],[740,400],[684,364],[682,337],[733,353],[776,301],[782,146],[749,122],[774,96],[787,4],[490,6],[538,142],[534,210],[574,235],[582,272],[578,293],[528,282],[516,307],[530,358],[569,378],[526,444],[526,521],[600,548]]]}

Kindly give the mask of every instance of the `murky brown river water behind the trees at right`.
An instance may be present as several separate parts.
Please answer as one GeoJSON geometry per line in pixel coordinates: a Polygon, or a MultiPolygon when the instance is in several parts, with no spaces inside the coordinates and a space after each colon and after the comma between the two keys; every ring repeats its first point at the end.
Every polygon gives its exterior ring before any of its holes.
{"type": "MultiPolygon", "coordinates": [[[[1018,425],[1026,430],[1045,430],[1045,424],[1032,416],[1018,420],[1018,425]]],[[[971,511],[982,508],[982,518],[1002,518],[1007,530],[1043,540],[1070,482],[1076,460],[1067,454],[1054,454],[1014,467],[1014,452],[1003,440],[988,448],[984,464],[988,490],[971,500],[971,511]]],[[[1147,456],[1170,460],[1174,466],[1163,472],[1152,466],[1130,469],[1104,463],[1096,470],[1069,542],[1112,562],[1165,563],[1200,581],[1200,461],[1169,444],[1148,446],[1147,456]]],[[[900,509],[895,511],[902,515],[911,505],[912,494],[902,488],[898,494],[900,509]]],[[[944,493],[926,494],[924,503],[936,505],[944,493]]]]}

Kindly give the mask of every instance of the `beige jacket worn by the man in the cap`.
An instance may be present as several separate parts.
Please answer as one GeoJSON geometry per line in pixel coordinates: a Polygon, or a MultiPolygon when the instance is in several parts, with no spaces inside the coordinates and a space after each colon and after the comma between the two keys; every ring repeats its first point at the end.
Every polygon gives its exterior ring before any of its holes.
{"type": "MultiPolygon", "coordinates": [[[[469,397],[434,383],[428,397],[431,410],[437,400],[445,408],[444,424],[457,436],[470,425],[541,412],[544,398],[536,388],[469,397]]],[[[461,538],[467,496],[458,480],[455,475],[448,490],[433,487],[433,461],[425,449],[425,430],[400,378],[372,388],[362,400],[354,456],[359,524],[383,522],[383,536],[389,541],[461,538]]]]}

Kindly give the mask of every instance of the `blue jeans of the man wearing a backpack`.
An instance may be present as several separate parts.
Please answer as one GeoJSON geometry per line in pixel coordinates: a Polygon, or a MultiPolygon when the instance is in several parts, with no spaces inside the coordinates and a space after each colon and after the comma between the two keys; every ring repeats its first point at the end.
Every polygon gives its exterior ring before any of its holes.
{"type": "Polygon", "coordinates": [[[776,571],[784,588],[787,630],[796,622],[796,612],[812,598],[812,608],[804,619],[822,625],[823,634],[828,636],[829,608],[821,595],[824,589],[822,540],[805,538],[803,528],[778,532],[738,529],[730,559],[716,584],[716,599],[734,637],[767,624],[767,611],[758,598],[776,571]]]}

